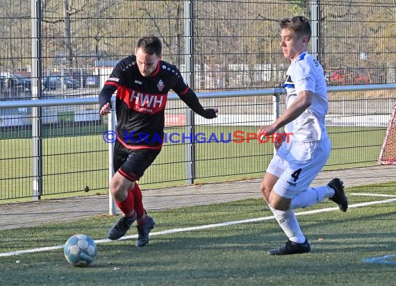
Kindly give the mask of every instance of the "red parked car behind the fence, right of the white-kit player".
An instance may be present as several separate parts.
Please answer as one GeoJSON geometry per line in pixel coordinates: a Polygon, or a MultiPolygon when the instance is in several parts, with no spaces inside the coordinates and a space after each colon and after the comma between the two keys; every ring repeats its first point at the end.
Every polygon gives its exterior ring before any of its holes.
{"type": "Polygon", "coordinates": [[[364,69],[337,69],[329,76],[330,85],[365,85],[370,77],[364,69]]]}

